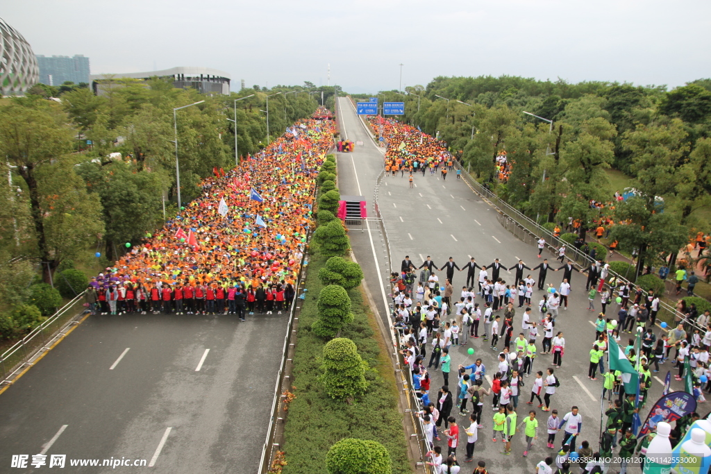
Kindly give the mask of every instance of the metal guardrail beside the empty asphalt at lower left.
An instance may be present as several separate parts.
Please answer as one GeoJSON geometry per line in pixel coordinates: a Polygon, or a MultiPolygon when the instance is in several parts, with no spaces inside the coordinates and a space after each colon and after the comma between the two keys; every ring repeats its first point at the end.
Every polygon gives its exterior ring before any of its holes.
{"type": "Polygon", "coordinates": [[[0,355],[0,371],[2,382],[0,385],[12,384],[17,375],[26,365],[33,365],[42,352],[50,349],[50,346],[62,338],[70,325],[73,325],[77,316],[84,313],[84,292],[79,293],[69,303],[65,304],[59,311],[46,319],[41,325],[31,330],[31,332],[18,340],[14,345],[0,355]]]}

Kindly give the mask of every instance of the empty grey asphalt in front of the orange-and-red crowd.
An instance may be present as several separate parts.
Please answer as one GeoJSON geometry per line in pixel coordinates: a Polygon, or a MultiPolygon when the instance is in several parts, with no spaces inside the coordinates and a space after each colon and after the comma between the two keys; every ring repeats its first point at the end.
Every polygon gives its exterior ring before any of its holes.
{"type": "Polygon", "coordinates": [[[64,425],[46,454],[65,454],[70,473],[145,472],[69,460],[148,464],[163,438],[151,472],[256,472],[287,318],[90,316],[0,396],[0,472],[45,472],[11,470],[11,458],[40,453],[64,425]]]}

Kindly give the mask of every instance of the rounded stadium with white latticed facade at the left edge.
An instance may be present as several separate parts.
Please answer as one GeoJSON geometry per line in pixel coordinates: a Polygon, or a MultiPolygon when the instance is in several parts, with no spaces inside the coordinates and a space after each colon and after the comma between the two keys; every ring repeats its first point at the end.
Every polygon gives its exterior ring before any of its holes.
{"type": "Polygon", "coordinates": [[[24,95],[38,80],[37,60],[31,46],[0,18],[0,95],[24,95]]]}

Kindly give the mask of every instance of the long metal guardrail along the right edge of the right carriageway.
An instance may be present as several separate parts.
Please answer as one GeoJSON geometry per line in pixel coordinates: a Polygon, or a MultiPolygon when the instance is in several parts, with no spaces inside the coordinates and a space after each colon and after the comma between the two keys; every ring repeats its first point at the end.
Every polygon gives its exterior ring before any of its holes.
{"type": "MultiPolygon", "coordinates": [[[[565,244],[565,257],[572,260],[582,268],[586,268],[593,262],[589,256],[579,251],[568,242],[565,242],[559,237],[555,237],[550,230],[538,225],[535,221],[530,219],[530,217],[527,217],[519,210],[513,208],[510,204],[506,203],[506,201],[499,198],[496,194],[492,193],[491,190],[484,188],[481,183],[472,178],[471,175],[461,167],[461,163],[455,161],[455,165],[456,168],[461,170],[461,176],[463,176],[466,182],[469,183],[472,190],[474,190],[474,193],[479,195],[486,201],[486,203],[491,205],[491,207],[498,212],[498,220],[501,225],[506,227],[516,237],[529,244],[535,244],[540,237],[543,237],[547,247],[552,249],[554,252],[557,252],[557,249],[560,248],[561,244],[565,244]],[[514,227],[518,227],[521,232],[514,231],[512,224],[515,224],[514,227]]],[[[610,270],[609,276],[613,276],[616,281],[624,281],[625,283],[629,283],[628,279],[622,275],[616,274],[614,271],[610,270]]],[[[642,293],[643,296],[647,296],[646,291],[643,290],[642,293]]],[[[697,325],[695,321],[691,321],[685,315],[676,311],[676,308],[668,303],[664,303],[663,301],[659,302],[657,321],[664,321],[670,328],[674,327],[678,323],[683,323],[687,328],[687,332],[689,328],[698,328],[701,329],[702,332],[705,330],[705,328],[701,328],[697,325]]]]}

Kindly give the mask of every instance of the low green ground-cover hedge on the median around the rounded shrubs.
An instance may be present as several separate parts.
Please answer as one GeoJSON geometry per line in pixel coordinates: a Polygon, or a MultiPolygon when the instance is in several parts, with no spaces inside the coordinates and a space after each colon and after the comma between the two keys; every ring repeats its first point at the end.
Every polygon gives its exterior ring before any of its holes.
{"type": "Polygon", "coordinates": [[[384,379],[378,368],[387,363],[378,357],[377,327],[368,321],[368,307],[359,289],[348,291],[351,298],[353,323],[341,330],[341,337],[355,343],[360,357],[368,362],[365,371],[368,390],[356,397],[353,404],[332,399],[319,382],[323,373],[323,352],[326,340],[311,331],[318,318],[317,298],[324,287],[319,270],[326,265],[326,257],[316,254],[309,262],[306,277],[306,300],[301,304],[299,328],[294,351],[292,392],[296,397],[289,403],[289,415],[284,426],[284,453],[287,465],[284,474],[326,473],[326,454],[333,443],[343,438],[360,438],[382,443],[390,453],[392,473],[410,473],[407,459],[402,414],[397,405],[397,388],[384,379]]]}

